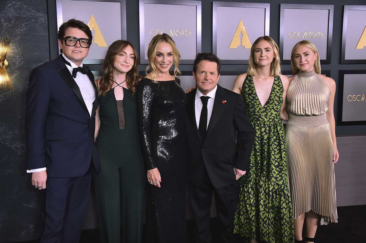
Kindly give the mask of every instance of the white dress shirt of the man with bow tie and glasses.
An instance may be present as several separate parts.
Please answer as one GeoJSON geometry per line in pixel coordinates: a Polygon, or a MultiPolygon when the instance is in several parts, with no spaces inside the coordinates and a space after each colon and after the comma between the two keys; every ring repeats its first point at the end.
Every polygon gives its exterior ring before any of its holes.
{"type": "MultiPolygon", "coordinates": [[[[74,62],[70,61],[70,59],[68,59],[64,54],[62,54],[62,56],[65,58],[66,61],[70,62],[71,67],[69,65],[66,65],[66,64],[65,65],[72,75],[72,69],[77,68],[78,66],[76,66],[74,64],[74,62]]],[[[83,63],[80,65],[80,67],[83,67],[83,63]]],[[[79,86],[81,96],[83,97],[86,108],[88,109],[89,115],[91,116],[91,110],[93,109],[93,102],[95,100],[94,86],[91,83],[89,77],[86,74],[83,74],[81,72],[76,73],[76,78],[74,78],[74,80],[75,80],[76,84],[79,86]]],[[[201,104],[201,106],[202,106],[202,104],[201,104]]],[[[39,172],[39,171],[44,171],[44,170],[46,170],[46,167],[33,169],[33,170],[27,170],[27,173],[39,172]]]]}

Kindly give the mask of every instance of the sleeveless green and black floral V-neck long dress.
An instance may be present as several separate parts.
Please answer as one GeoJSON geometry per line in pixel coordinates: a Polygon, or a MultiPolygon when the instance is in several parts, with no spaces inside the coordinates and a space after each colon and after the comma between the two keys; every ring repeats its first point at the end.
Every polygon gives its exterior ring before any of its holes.
{"type": "Polygon", "coordinates": [[[268,243],[294,242],[285,134],[280,118],[283,91],[281,78],[276,76],[262,107],[253,77],[248,75],[242,86],[255,139],[249,170],[239,179],[234,233],[268,243]]]}

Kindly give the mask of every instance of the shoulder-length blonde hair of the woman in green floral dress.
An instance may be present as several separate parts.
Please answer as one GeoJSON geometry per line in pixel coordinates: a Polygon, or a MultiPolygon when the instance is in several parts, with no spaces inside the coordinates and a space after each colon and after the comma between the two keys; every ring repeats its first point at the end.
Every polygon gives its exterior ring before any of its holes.
{"type": "Polygon", "coordinates": [[[261,36],[258,39],[256,39],[250,49],[250,57],[249,57],[249,67],[247,70],[248,75],[250,76],[256,76],[257,75],[257,64],[254,61],[254,51],[255,51],[255,46],[257,46],[259,41],[263,41],[265,40],[266,42],[268,42],[273,49],[273,60],[271,63],[271,72],[270,72],[270,76],[279,76],[281,73],[281,60],[280,60],[280,55],[279,55],[279,48],[276,44],[276,42],[269,37],[268,35],[265,36],[261,36]]]}

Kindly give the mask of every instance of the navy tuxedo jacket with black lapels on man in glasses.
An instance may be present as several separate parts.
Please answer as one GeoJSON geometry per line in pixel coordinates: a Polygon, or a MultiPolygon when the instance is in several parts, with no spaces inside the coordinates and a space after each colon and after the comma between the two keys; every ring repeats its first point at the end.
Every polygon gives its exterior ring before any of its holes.
{"type": "Polygon", "coordinates": [[[84,175],[94,164],[100,171],[94,144],[95,114],[99,105],[95,89],[91,116],[80,89],[61,55],[33,69],[26,92],[26,169],[47,168],[50,177],[84,175]]]}

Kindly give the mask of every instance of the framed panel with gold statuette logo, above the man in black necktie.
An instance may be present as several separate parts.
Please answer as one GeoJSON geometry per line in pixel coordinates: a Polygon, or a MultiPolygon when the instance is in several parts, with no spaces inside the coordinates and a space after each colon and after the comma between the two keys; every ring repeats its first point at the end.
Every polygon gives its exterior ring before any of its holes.
{"type": "Polygon", "coordinates": [[[253,42],[269,35],[269,5],[213,2],[212,51],[223,64],[249,63],[253,42]]]}

